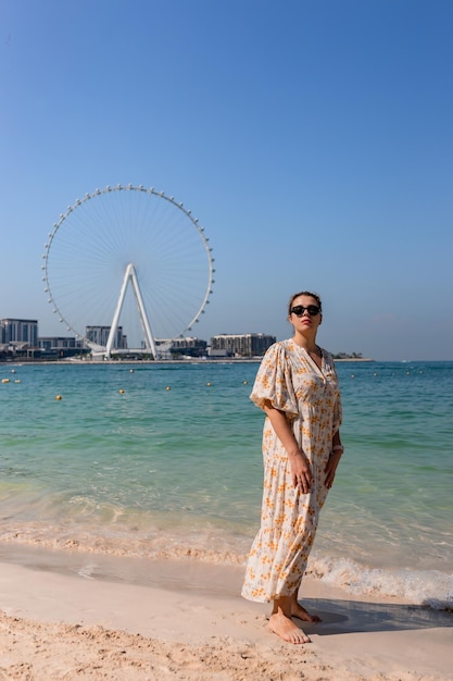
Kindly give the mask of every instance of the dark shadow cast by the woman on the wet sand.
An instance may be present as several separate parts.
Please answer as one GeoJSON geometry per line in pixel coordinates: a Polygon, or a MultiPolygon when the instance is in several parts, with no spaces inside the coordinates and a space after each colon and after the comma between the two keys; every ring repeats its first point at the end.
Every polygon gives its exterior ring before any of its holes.
{"type": "Polygon", "coordinates": [[[318,615],[322,622],[294,621],[307,634],[331,635],[357,632],[403,631],[453,627],[453,612],[433,610],[424,605],[364,603],[332,598],[304,598],[309,612],[318,615]]]}

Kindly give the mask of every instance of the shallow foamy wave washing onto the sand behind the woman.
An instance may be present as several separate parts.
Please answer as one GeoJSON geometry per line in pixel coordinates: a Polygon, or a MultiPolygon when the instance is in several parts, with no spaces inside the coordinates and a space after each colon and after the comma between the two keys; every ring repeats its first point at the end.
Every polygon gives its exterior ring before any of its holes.
{"type": "MultiPolygon", "coordinates": [[[[243,567],[250,536],[227,534],[218,528],[190,531],[187,527],[154,528],[141,532],[99,533],[92,528],[27,522],[4,527],[1,543],[89,555],[127,556],[146,560],[192,560],[219,566],[243,567]]],[[[395,597],[438,610],[453,610],[453,574],[440,570],[374,568],[351,558],[313,552],[306,574],[348,594],[395,597]]]]}

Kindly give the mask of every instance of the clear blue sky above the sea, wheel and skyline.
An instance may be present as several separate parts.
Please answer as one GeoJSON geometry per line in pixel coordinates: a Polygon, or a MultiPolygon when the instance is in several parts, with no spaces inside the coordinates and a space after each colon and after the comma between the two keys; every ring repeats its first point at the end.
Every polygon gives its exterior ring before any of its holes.
{"type": "Polygon", "coordinates": [[[197,327],[453,359],[451,0],[3,0],[0,318],[62,333],[41,255],[105,185],[175,196],[216,258],[197,327]]]}

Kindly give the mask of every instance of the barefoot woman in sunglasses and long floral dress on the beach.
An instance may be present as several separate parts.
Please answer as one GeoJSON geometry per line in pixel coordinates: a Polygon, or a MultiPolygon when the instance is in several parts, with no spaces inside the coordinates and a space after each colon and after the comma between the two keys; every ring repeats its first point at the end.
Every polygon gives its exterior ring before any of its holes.
{"type": "Polygon", "coordinates": [[[298,603],[298,592],[343,453],[337,373],[329,352],[316,344],[322,319],[317,294],[291,297],[288,320],[294,334],[267,350],[250,396],[266,414],[264,486],[242,596],[273,600],[269,627],[289,643],[310,641],[293,617],[319,621],[298,603]]]}

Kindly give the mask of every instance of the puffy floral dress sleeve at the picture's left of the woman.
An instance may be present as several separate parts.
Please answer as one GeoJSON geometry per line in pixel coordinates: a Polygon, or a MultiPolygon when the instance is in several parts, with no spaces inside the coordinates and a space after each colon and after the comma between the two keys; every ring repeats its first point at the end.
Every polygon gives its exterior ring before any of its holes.
{"type": "Polygon", "coordinates": [[[272,345],[263,357],[250,399],[261,408],[270,403],[289,418],[299,416],[290,360],[281,343],[272,345]]]}

